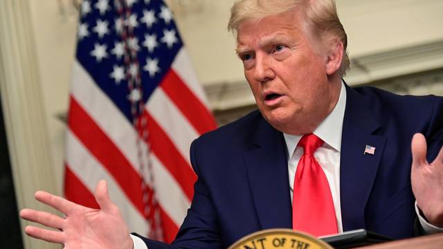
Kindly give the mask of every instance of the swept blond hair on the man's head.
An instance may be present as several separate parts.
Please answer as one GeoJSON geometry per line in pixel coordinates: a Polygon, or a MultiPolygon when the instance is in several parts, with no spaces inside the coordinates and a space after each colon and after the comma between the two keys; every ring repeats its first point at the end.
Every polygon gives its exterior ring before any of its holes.
{"type": "MultiPolygon", "coordinates": [[[[316,33],[324,42],[332,42],[337,39],[343,43],[343,59],[340,72],[345,75],[350,68],[347,56],[347,35],[338,19],[334,0],[239,0],[230,8],[228,30],[237,35],[239,25],[243,21],[260,20],[270,15],[278,15],[284,12],[305,8],[307,20],[314,24],[316,33]]],[[[336,44],[336,43],[335,43],[336,44]]],[[[329,44],[334,46],[334,44],[329,44]]]]}

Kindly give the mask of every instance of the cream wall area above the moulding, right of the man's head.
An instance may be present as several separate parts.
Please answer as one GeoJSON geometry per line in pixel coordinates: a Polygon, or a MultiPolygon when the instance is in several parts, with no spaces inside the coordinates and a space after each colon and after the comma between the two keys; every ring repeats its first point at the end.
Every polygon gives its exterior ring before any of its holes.
{"type": "Polygon", "coordinates": [[[351,57],[443,39],[443,1],[338,0],[351,57]]]}

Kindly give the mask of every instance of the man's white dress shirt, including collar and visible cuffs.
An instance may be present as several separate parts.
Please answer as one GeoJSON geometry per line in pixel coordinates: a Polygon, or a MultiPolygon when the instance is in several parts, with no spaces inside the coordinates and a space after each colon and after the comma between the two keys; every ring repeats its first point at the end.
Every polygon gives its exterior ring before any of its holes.
{"type": "MultiPolygon", "coordinates": [[[[318,138],[325,143],[319,147],[314,157],[320,164],[323,172],[325,172],[329,189],[331,190],[332,200],[334,201],[334,210],[337,219],[338,233],[343,233],[343,223],[341,221],[341,205],[340,205],[340,151],[341,151],[341,133],[343,130],[343,118],[345,116],[346,107],[346,89],[345,84],[341,83],[340,96],[338,102],[331,113],[320,123],[313,132],[318,138]]],[[[300,160],[303,149],[297,147],[298,141],[302,136],[289,135],[283,133],[286,142],[289,169],[289,189],[291,191],[291,200],[293,198],[293,179],[296,176],[298,160],[300,160]]],[[[419,216],[419,221],[427,234],[435,232],[443,232],[443,228],[437,228],[431,225],[419,215],[417,203],[415,210],[419,216]]],[[[147,246],[140,238],[131,235],[134,241],[134,249],[147,249],[147,246]]]]}

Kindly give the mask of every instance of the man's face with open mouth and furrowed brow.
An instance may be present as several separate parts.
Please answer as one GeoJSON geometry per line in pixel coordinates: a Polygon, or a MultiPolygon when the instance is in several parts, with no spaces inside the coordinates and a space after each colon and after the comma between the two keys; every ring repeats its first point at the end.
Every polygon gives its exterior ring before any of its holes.
{"type": "Polygon", "coordinates": [[[275,129],[294,135],[314,131],[340,94],[340,77],[327,71],[327,49],[309,30],[300,10],[238,28],[237,54],[258,108],[275,129]]]}

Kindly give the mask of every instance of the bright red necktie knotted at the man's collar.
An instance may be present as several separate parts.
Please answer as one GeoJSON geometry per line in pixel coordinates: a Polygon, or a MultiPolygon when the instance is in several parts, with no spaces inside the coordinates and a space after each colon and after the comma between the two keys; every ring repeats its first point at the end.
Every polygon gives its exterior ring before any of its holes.
{"type": "Polygon", "coordinates": [[[314,134],[300,139],[304,152],[298,162],[293,183],[292,228],[318,237],[336,234],[337,221],[331,190],[325,172],[314,158],[323,140],[314,134]]]}

